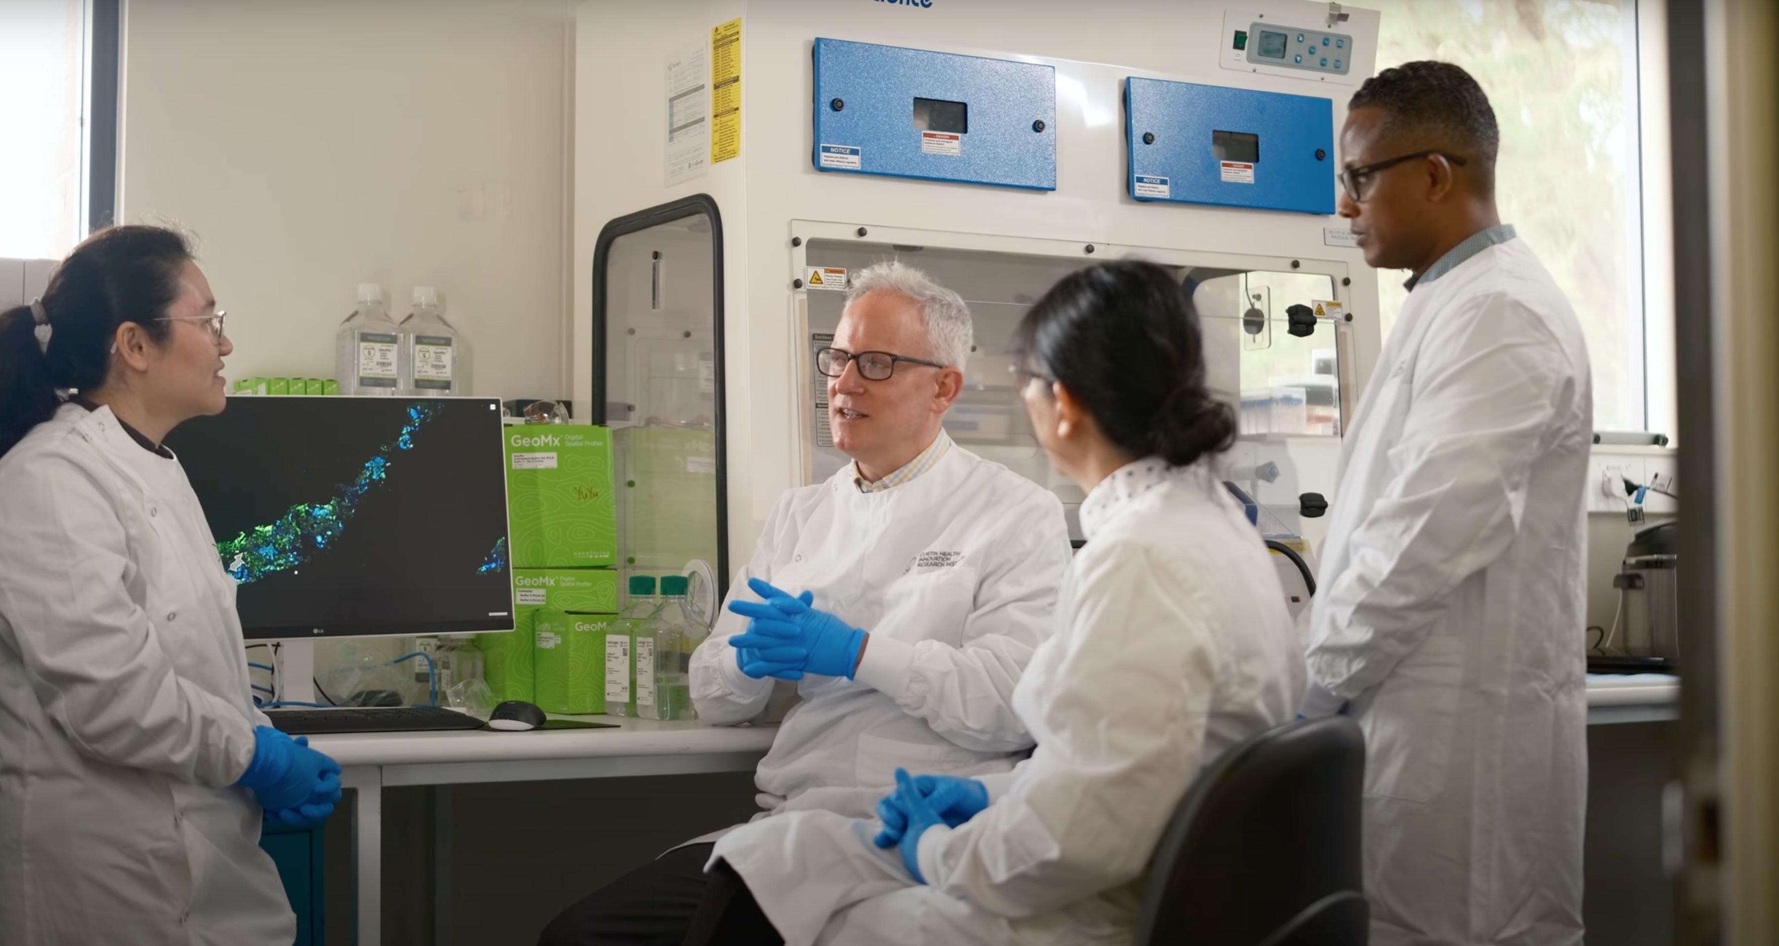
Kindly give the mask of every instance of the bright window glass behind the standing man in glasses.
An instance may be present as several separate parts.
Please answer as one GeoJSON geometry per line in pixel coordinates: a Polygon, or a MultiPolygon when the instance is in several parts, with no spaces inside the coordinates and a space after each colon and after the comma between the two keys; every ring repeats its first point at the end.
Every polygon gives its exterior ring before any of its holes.
{"type": "MultiPolygon", "coordinates": [[[[1630,0],[1626,0],[1630,2],[1630,0]]],[[[1615,2],[1377,0],[1377,68],[1455,62],[1501,128],[1501,222],[1550,269],[1587,333],[1594,427],[1644,429],[1635,30],[1615,2]]],[[[1388,336],[1405,272],[1381,272],[1388,336]]]]}

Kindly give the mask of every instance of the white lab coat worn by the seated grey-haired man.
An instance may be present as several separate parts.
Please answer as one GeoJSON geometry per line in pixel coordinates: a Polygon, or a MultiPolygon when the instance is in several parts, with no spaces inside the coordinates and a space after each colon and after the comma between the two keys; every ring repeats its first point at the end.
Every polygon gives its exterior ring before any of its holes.
{"type": "Polygon", "coordinates": [[[776,688],[802,697],[760,761],[760,816],[868,816],[897,766],[1007,772],[1032,747],[1010,701],[1069,564],[1062,503],[957,445],[882,493],[859,493],[852,477],[847,464],[788,491],[729,599],[756,599],[747,578],[815,592],[815,606],[870,631],[856,677],[747,677],[729,645],[747,621],[728,608],[692,654],[704,720],[758,717],[776,688]]]}

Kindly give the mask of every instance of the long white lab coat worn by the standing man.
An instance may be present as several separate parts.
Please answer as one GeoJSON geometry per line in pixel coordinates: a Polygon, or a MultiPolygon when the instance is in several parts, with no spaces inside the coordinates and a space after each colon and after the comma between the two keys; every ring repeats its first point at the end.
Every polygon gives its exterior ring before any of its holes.
{"type": "Polygon", "coordinates": [[[1521,240],[1409,293],[1308,654],[1366,738],[1373,946],[1582,942],[1590,430],[1582,327],[1521,240]]]}

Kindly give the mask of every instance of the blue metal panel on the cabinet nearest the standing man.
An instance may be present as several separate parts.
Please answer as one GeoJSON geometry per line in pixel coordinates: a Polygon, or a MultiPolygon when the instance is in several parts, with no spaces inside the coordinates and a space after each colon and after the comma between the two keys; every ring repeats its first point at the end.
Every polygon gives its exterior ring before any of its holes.
{"type": "Polygon", "coordinates": [[[1131,76],[1124,123],[1139,201],[1334,213],[1331,100],[1131,76]],[[1220,160],[1215,132],[1256,135],[1258,160],[1220,160]]]}

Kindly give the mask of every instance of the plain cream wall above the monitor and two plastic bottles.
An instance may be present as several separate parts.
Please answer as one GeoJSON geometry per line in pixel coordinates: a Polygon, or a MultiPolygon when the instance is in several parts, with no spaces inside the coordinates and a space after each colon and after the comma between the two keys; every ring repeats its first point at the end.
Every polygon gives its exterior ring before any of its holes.
{"type": "Polygon", "coordinates": [[[573,192],[566,0],[125,4],[121,219],[176,224],[229,377],[333,377],[377,281],[438,286],[471,393],[562,397],[573,192]]]}

